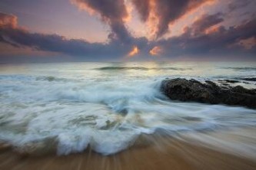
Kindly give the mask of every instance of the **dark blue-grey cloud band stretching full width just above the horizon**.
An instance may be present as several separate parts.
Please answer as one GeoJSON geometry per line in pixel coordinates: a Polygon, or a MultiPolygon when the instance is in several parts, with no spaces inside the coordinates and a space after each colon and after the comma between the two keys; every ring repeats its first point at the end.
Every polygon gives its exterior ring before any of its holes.
{"type": "Polygon", "coordinates": [[[131,38],[129,43],[124,44],[119,39],[111,38],[111,35],[108,43],[90,43],[85,40],[67,39],[58,34],[32,33],[18,27],[14,15],[0,12],[0,42],[20,49],[30,47],[37,51],[68,54],[75,60],[118,60],[127,56],[135,46],[139,50],[135,56],[138,60],[149,57],[149,51],[153,48],[158,49],[162,57],[169,58],[208,58],[212,55],[218,58],[218,54],[243,54],[255,57],[256,19],[252,18],[241,25],[224,28],[221,26],[223,17],[221,13],[202,15],[179,36],[161,41],[131,38]],[[248,44],[249,47],[246,47],[248,44]]]}

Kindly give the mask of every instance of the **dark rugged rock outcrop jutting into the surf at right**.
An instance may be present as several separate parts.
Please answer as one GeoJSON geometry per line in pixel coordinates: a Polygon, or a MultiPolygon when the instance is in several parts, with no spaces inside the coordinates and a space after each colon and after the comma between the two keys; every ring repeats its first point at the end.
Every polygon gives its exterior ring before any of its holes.
{"type": "Polygon", "coordinates": [[[171,100],[194,101],[199,103],[227,104],[256,108],[256,90],[241,86],[220,87],[206,80],[166,79],[161,83],[161,90],[171,100]]]}

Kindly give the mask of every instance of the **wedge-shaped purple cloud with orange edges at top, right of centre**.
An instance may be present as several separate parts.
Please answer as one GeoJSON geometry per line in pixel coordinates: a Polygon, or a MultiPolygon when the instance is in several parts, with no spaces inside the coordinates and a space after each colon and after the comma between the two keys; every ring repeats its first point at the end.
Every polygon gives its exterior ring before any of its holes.
{"type": "MultiPolygon", "coordinates": [[[[133,0],[132,2],[141,17],[141,21],[157,22],[157,28],[153,30],[156,38],[161,38],[168,32],[169,24],[174,24],[175,21],[190,11],[200,7],[205,2],[213,2],[213,0],[133,0]]],[[[155,26],[155,23],[152,25],[155,26]]]]}

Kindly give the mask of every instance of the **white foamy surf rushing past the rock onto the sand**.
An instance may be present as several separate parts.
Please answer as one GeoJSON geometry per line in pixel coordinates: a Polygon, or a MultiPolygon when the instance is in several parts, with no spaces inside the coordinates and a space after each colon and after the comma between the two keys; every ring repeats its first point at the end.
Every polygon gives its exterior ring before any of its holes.
{"type": "MultiPolygon", "coordinates": [[[[96,70],[190,70],[101,66],[96,70]]],[[[256,125],[255,110],[168,100],[159,90],[158,77],[86,71],[77,75],[74,70],[61,70],[59,77],[0,76],[0,139],[18,152],[68,155],[91,147],[110,155],[144,134],[256,125]]]]}

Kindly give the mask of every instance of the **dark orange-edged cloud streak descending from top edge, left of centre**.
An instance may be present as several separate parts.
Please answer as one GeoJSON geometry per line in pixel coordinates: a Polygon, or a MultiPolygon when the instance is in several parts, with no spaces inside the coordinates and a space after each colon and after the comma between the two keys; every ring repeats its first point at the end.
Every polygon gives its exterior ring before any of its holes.
{"type": "Polygon", "coordinates": [[[111,28],[111,38],[128,42],[131,35],[125,28],[125,19],[128,18],[128,11],[124,0],[72,0],[75,5],[85,10],[91,10],[101,16],[101,20],[111,28]]]}

